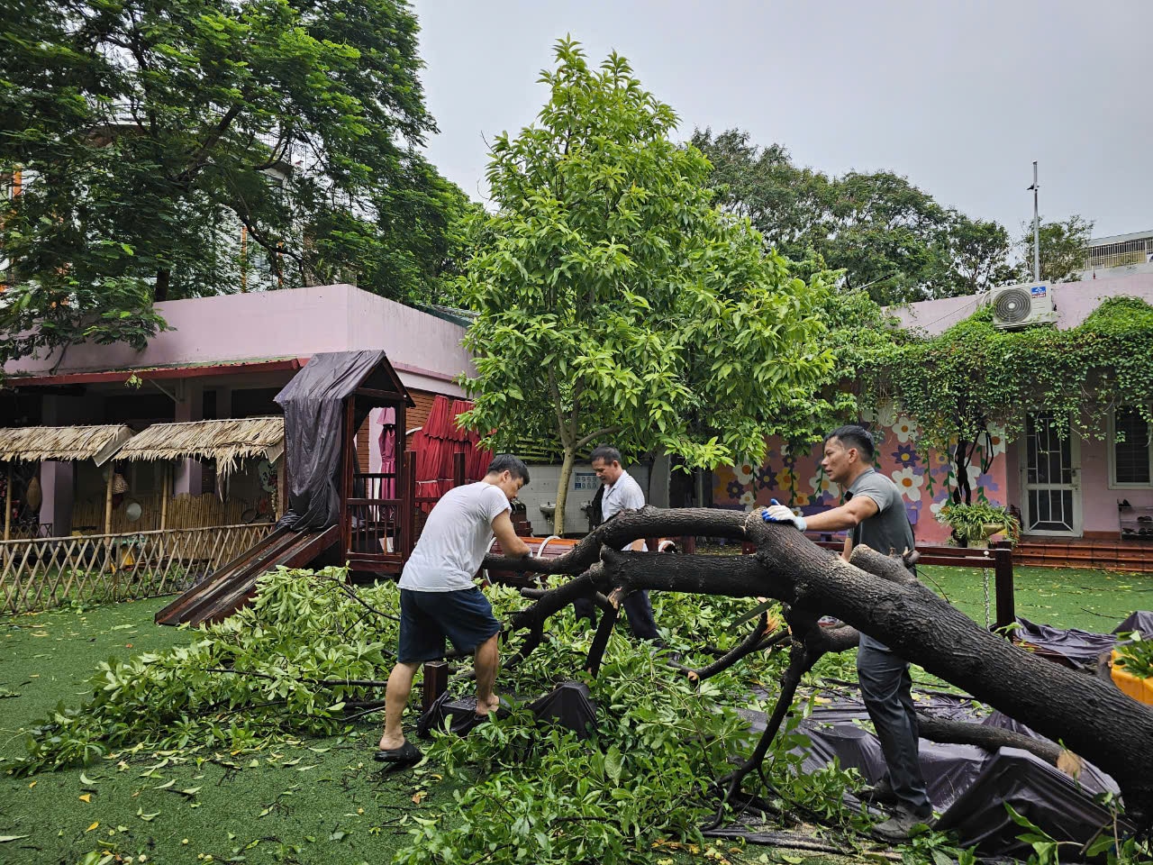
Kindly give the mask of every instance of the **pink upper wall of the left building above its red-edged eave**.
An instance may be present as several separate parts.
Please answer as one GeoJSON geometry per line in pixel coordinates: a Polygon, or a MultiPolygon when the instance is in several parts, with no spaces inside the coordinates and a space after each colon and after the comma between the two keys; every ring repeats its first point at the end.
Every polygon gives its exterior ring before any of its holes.
{"type": "Polygon", "coordinates": [[[12,361],[5,374],[67,375],[384,348],[409,388],[464,396],[454,379],[475,371],[460,345],[460,325],[351,285],[172,300],[156,308],[175,330],[158,333],[142,352],[123,344],[85,344],[69,348],[54,373],[55,353],[12,361]]]}

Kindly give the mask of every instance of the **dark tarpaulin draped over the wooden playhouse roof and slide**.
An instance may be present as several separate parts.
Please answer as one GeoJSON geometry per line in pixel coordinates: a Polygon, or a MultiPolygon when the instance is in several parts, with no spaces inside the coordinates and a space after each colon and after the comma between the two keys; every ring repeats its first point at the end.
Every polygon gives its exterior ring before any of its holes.
{"type": "Polygon", "coordinates": [[[380,349],[314,354],[276,396],[288,460],[288,510],[278,527],[308,532],[340,521],[342,403],[382,360],[380,349]]]}

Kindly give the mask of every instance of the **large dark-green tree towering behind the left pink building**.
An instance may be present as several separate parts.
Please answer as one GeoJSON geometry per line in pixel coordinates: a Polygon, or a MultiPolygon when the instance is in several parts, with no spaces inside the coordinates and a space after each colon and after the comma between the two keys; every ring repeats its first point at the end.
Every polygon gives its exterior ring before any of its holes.
{"type": "Polygon", "coordinates": [[[402,0],[6,3],[0,326],[68,307],[43,345],[119,339],[121,314],[138,341],[153,300],[435,295],[467,200],[416,151],[435,129],[416,33],[402,0]]]}

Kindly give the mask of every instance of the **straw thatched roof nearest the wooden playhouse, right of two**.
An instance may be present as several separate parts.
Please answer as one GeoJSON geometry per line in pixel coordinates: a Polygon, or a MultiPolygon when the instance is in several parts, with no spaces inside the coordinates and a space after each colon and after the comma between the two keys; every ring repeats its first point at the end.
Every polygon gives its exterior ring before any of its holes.
{"type": "Polygon", "coordinates": [[[123,460],[214,459],[221,476],[249,457],[274,462],[285,449],[285,419],[221,418],[153,423],[116,453],[123,460]]]}

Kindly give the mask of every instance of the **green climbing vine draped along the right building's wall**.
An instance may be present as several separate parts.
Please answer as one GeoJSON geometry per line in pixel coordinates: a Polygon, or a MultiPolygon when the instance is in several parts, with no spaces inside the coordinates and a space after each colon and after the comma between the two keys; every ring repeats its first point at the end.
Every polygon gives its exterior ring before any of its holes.
{"type": "Polygon", "coordinates": [[[862,406],[892,400],[915,418],[919,449],[954,454],[957,502],[971,501],[966,468],[990,459],[993,430],[1012,438],[1031,412],[1087,438],[1103,435],[1114,406],[1153,422],[1153,307],[1136,298],[1106,300],[1069,330],[998,330],[982,307],[936,337],[879,343],[869,332],[846,352],[862,406]]]}

